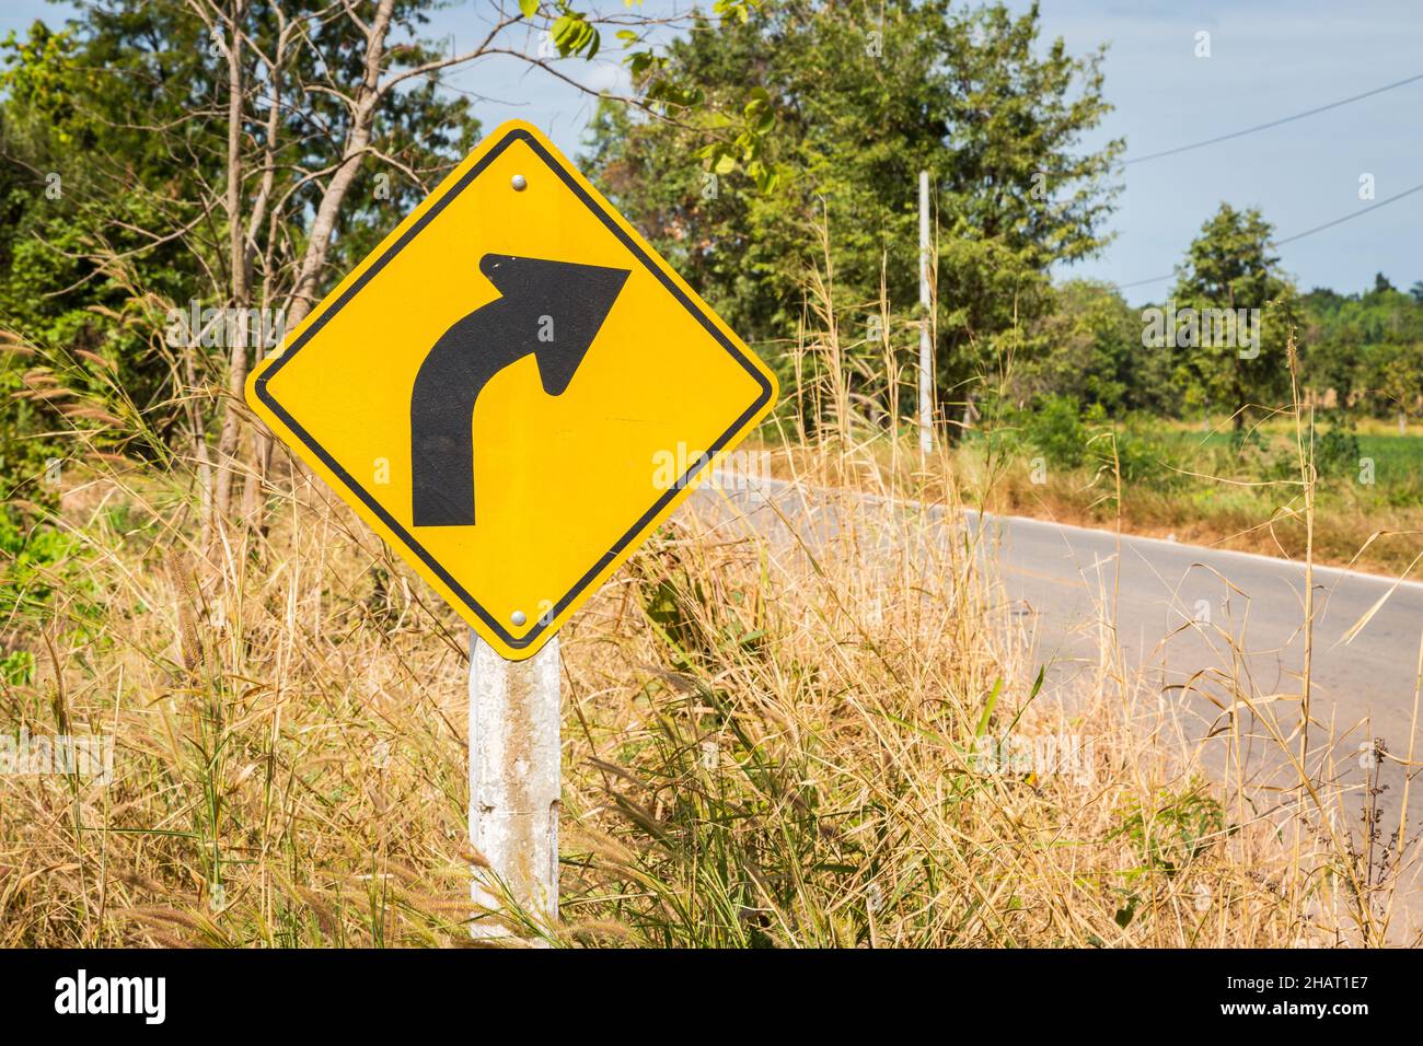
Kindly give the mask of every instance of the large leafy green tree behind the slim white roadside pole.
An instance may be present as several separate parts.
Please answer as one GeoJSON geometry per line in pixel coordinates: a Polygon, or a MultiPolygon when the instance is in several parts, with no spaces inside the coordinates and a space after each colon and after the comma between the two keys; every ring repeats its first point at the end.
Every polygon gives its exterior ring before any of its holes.
{"type": "MultiPolygon", "coordinates": [[[[1049,266],[1106,242],[1120,142],[1080,145],[1107,111],[1100,58],[1044,43],[1036,6],[787,0],[667,56],[712,100],[748,87],[768,100],[771,191],[731,175],[716,149],[699,154],[697,128],[626,111],[599,114],[592,159],[657,249],[763,342],[795,336],[811,282],[847,333],[865,329],[884,286],[891,322],[914,339],[918,172],[929,171],[949,398],[1050,306],[1049,266]]],[[[881,353],[875,339],[845,340],[881,353]]]]}

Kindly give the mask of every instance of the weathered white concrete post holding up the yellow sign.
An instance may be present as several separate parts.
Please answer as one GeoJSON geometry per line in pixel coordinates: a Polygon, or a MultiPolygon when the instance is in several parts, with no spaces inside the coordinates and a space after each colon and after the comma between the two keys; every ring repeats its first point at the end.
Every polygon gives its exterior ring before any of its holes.
{"type": "MultiPolygon", "coordinates": [[[[558,638],[508,662],[470,630],[470,842],[490,862],[475,868],[471,897],[502,909],[492,875],[527,911],[558,918],[559,667],[558,638]]],[[[490,919],[481,939],[508,938],[490,919]]]]}

